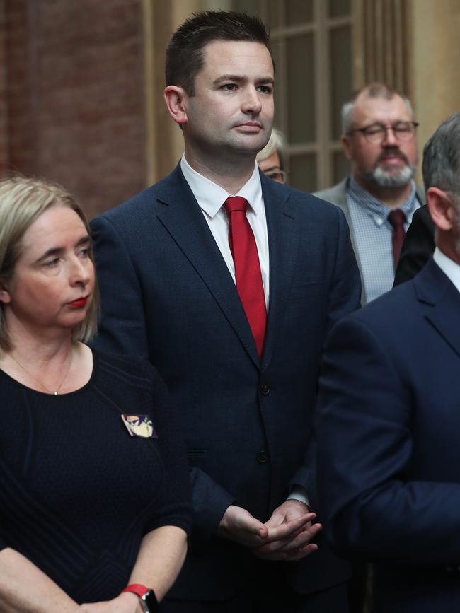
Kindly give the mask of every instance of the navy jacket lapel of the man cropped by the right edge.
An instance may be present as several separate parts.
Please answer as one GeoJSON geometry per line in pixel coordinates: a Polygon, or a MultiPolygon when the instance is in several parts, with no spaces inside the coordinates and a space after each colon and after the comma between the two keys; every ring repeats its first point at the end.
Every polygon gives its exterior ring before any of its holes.
{"type": "Polygon", "coordinates": [[[414,284],[426,319],[460,357],[460,293],[433,259],[414,284]]]}

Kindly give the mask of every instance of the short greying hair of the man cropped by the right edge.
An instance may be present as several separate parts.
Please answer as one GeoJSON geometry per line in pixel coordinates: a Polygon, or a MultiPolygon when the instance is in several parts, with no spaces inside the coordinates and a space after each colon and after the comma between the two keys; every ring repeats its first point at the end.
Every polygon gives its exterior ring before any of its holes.
{"type": "Polygon", "coordinates": [[[425,189],[460,196],[460,111],[442,122],[423,149],[425,189]]]}

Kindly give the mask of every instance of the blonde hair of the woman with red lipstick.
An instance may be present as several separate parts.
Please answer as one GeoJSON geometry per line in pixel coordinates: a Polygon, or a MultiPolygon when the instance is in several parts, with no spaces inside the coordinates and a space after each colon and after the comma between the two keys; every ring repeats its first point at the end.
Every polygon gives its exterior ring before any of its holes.
{"type": "MultiPolygon", "coordinates": [[[[16,262],[21,256],[23,235],[35,219],[52,206],[65,206],[75,211],[88,235],[90,234],[88,221],[81,206],[60,185],[22,176],[0,181],[0,281],[11,279],[16,262]]],[[[89,257],[94,264],[91,250],[89,257]]],[[[88,313],[84,321],[72,330],[74,341],[86,342],[96,334],[99,304],[96,280],[88,313]]],[[[11,351],[12,348],[6,329],[3,305],[0,305],[0,351],[11,351]]]]}

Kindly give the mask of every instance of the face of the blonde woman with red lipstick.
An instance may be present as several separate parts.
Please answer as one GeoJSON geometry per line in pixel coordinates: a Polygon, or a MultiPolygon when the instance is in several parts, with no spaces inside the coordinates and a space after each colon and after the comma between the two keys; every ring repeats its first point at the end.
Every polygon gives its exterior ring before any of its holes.
{"type": "Polygon", "coordinates": [[[6,323],[29,332],[71,329],[93,298],[91,242],[79,216],[64,206],[42,213],[25,232],[11,279],[0,286],[6,323]]]}

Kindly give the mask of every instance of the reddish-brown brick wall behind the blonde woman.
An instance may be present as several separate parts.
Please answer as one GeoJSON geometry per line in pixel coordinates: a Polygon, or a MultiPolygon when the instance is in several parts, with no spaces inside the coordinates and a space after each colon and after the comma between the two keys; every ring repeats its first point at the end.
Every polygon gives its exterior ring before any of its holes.
{"type": "Polygon", "coordinates": [[[142,1],[4,3],[9,167],[62,183],[90,217],[139,192],[142,1]]]}

